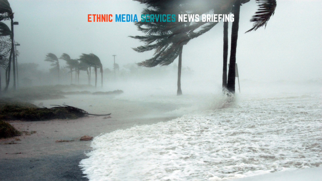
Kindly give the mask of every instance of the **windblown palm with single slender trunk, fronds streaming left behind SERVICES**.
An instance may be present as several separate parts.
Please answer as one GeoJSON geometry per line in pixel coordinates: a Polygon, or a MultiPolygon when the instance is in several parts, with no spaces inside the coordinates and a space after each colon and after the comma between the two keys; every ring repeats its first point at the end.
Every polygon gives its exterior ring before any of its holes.
{"type": "MultiPolygon", "coordinates": [[[[187,14],[183,8],[180,8],[181,1],[155,1],[155,0],[137,0],[144,3],[149,9],[144,9],[142,14],[187,14]]],[[[151,15],[148,16],[151,18],[151,15]]],[[[161,17],[160,17],[161,18],[161,17]]],[[[135,22],[139,31],[146,33],[145,36],[130,36],[144,42],[144,46],[133,48],[137,52],[155,50],[151,59],[137,63],[142,67],[155,67],[157,65],[169,65],[179,56],[178,59],[178,81],[177,95],[182,95],[181,90],[181,65],[182,49],[188,41],[183,41],[178,37],[186,37],[186,33],[180,33],[180,29],[189,26],[190,22],[135,22]]]]}

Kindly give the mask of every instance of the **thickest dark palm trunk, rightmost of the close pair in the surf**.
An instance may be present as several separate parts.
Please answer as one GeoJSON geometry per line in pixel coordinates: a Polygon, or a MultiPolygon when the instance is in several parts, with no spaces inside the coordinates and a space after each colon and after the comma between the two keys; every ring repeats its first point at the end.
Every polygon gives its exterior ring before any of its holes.
{"type": "Polygon", "coordinates": [[[234,3],[234,22],[232,23],[232,43],[230,50],[230,59],[229,59],[229,71],[228,71],[228,81],[227,89],[235,93],[235,64],[236,64],[236,49],[237,49],[237,39],[238,39],[238,28],[239,28],[239,12],[241,7],[241,0],[237,0],[234,3]]]}

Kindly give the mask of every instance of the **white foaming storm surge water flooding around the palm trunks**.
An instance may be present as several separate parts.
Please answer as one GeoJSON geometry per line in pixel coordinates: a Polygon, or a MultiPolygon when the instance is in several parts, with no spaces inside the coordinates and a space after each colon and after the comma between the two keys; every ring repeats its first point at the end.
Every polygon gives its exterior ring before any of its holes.
{"type": "Polygon", "coordinates": [[[168,122],[102,134],[81,160],[99,180],[215,181],[322,165],[321,94],[225,98],[168,122]]]}

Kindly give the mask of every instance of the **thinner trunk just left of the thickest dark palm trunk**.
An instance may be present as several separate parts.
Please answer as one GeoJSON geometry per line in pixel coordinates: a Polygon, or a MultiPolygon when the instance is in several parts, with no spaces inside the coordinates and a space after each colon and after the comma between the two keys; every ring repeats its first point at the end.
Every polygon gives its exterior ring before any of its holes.
{"type": "Polygon", "coordinates": [[[228,21],[223,22],[223,90],[227,89],[228,21]]]}

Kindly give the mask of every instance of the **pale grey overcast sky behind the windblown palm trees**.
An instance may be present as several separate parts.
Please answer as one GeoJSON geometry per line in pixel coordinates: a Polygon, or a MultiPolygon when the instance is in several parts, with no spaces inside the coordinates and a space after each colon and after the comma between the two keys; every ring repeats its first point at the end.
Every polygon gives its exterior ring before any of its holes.
{"type": "MultiPolygon", "coordinates": [[[[133,22],[87,22],[87,14],[137,14],[145,7],[131,0],[9,0],[14,14],[15,41],[21,44],[18,62],[35,62],[48,70],[47,53],[76,59],[93,52],[104,68],[112,68],[113,54],[120,67],[144,61],[153,52],[137,53],[141,35],[133,22]]],[[[254,0],[241,7],[237,60],[241,79],[254,81],[310,80],[322,78],[322,1],[277,0],[275,15],[266,29],[244,34],[256,11],[254,0]]],[[[140,18],[139,18],[140,19],[140,18]]],[[[5,21],[9,24],[9,21],[5,21]]],[[[231,24],[230,24],[231,25],[231,24]]],[[[229,34],[230,41],[230,34],[229,34]]],[[[230,43],[229,43],[230,46],[230,43]]],[[[221,80],[223,22],[190,41],[183,49],[182,65],[195,76],[221,80]]],[[[230,47],[229,47],[230,48],[230,47]]],[[[63,61],[61,61],[63,62],[63,61]]],[[[175,60],[177,64],[177,59],[175,60]]],[[[63,63],[61,63],[63,65],[63,63]]],[[[183,75],[184,76],[184,75],[183,75]]]]}

